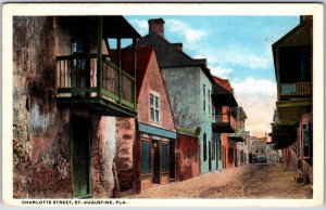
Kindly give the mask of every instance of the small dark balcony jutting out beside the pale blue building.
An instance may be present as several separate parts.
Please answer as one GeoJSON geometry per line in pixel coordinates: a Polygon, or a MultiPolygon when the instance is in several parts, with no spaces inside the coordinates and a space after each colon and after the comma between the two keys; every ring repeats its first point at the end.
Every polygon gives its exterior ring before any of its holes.
{"type": "Polygon", "coordinates": [[[212,129],[220,133],[235,133],[237,131],[237,120],[235,117],[228,114],[215,114],[214,122],[212,122],[212,129]]]}

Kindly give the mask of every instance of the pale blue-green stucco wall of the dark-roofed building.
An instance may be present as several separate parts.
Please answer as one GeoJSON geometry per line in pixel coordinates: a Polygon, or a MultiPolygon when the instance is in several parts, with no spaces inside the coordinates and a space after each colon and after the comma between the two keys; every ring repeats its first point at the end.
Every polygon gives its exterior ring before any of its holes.
{"type": "MultiPolygon", "coordinates": [[[[208,157],[209,157],[209,144],[212,144],[212,121],[213,118],[209,114],[209,96],[208,90],[212,93],[212,83],[200,67],[173,67],[163,68],[162,75],[166,84],[168,97],[171,101],[172,110],[178,110],[174,108],[176,106],[175,101],[178,103],[178,107],[189,107],[190,115],[200,119],[199,126],[201,127],[201,133],[199,135],[200,144],[200,171],[201,173],[209,172],[209,158],[203,161],[203,134],[206,134],[208,157]],[[203,110],[203,84],[205,84],[205,111],[203,110]],[[209,143],[211,142],[211,143],[209,143]]],[[[211,109],[212,109],[211,101],[211,109]]],[[[212,111],[211,111],[212,113],[212,111]]],[[[218,162],[217,162],[218,163],[218,162]]],[[[211,160],[211,171],[216,170],[216,158],[211,160]]]]}

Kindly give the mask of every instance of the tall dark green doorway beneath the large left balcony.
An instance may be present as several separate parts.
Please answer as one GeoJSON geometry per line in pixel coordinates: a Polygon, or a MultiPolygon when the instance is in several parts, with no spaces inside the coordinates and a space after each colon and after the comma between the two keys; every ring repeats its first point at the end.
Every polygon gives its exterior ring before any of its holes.
{"type": "Polygon", "coordinates": [[[74,197],[90,197],[89,128],[86,118],[72,117],[74,197]]]}

